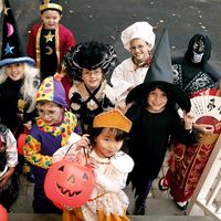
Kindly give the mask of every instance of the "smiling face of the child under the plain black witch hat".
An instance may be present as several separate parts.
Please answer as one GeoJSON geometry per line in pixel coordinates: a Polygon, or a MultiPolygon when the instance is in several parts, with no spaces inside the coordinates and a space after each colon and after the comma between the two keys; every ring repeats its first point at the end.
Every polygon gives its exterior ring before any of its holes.
{"type": "Polygon", "coordinates": [[[167,94],[159,88],[155,88],[147,96],[147,110],[150,113],[160,113],[165,109],[167,102],[167,94]]]}

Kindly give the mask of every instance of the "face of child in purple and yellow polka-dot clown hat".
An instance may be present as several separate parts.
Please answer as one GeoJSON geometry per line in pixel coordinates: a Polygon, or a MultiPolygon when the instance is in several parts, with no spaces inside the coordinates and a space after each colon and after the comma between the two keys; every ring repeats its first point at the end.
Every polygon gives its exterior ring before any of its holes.
{"type": "Polygon", "coordinates": [[[53,102],[46,102],[45,104],[41,105],[41,103],[36,103],[36,109],[39,112],[40,118],[46,125],[54,125],[60,124],[63,117],[63,108],[59,107],[53,102]]]}

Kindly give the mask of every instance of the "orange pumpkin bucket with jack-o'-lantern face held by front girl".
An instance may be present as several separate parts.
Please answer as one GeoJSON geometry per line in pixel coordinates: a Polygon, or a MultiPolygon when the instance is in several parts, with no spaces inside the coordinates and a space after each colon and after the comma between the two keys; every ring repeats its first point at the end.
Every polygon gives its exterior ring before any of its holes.
{"type": "Polygon", "coordinates": [[[92,168],[61,160],[50,167],[44,181],[44,191],[56,207],[77,208],[88,200],[94,183],[92,168]]]}

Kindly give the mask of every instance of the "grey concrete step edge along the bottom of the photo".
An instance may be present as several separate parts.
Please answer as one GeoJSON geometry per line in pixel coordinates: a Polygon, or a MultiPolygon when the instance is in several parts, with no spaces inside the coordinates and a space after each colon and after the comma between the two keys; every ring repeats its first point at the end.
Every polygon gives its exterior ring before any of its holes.
{"type": "MultiPolygon", "coordinates": [[[[213,221],[210,217],[130,215],[131,221],[213,221]]],[[[59,214],[10,213],[9,221],[62,221],[59,214]]]]}

